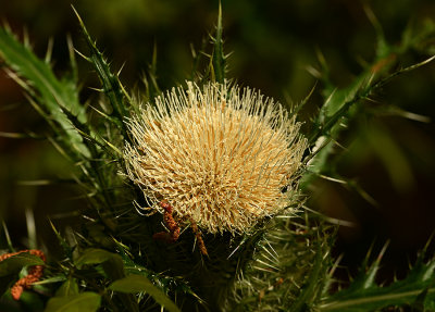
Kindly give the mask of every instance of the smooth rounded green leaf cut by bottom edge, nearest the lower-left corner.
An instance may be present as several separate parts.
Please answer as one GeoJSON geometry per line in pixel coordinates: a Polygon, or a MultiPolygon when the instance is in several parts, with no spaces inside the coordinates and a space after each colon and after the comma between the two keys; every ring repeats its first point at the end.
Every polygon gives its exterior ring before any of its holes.
{"type": "Polygon", "coordinates": [[[100,308],[100,295],[85,291],[78,295],[51,298],[45,312],[95,312],[100,308]]]}

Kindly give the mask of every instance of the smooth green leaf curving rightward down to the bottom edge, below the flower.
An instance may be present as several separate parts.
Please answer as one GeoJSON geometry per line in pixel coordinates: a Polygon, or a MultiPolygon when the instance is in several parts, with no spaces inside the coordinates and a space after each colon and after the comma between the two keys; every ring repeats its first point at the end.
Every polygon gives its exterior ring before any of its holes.
{"type": "Polygon", "coordinates": [[[156,302],[163,305],[170,312],[179,312],[175,303],[159,288],[142,275],[128,275],[109,286],[109,289],[120,292],[138,294],[141,291],[150,295],[156,302]]]}

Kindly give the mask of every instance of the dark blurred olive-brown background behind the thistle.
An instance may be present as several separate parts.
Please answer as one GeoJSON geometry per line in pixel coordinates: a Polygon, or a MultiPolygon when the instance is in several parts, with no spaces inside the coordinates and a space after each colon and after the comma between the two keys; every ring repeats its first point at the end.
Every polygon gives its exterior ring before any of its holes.
{"type": "MultiPolygon", "coordinates": [[[[157,47],[157,76],[163,90],[191,75],[191,47],[199,50],[214,30],[217,1],[199,0],[72,0],[90,35],[114,71],[123,65],[121,79],[127,87],[140,84],[157,47]]],[[[70,1],[0,0],[0,17],[20,37],[27,33],[34,50],[44,58],[53,39],[55,72],[69,68],[66,36],[87,53],[70,1]]],[[[376,34],[363,5],[369,5],[394,45],[410,23],[435,16],[432,0],[402,1],[222,1],[228,77],[261,89],[279,102],[300,102],[315,85],[308,68],[320,68],[321,51],[334,84],[345,87],[375,55],[376,34]]],[[[432,45],[434,46],[434,42],[432,45]]],[[[435,53],[435,49],[432,50],[435,53]]],[[[428,58],[410,54],[403,65],[428,58]]],[[[98,99],[88,87],[99,87],[91,67],[77,57],[83,99],[98,99]]],[[[376,96],[380,102],[427,116],[421,123],[397,116],[358,116],[343,134],[346,149],[333,155],[335,173],[358,182],[370,196],[344,185],[316,179],[307,190],[307,205],[324,214],[351,222],[341,226],[335,252],[345,252],[344,264],[358,266],[370,245],[390,239],[387,267],[406,267],[415,250],[434,232],[435,205],[435,62],[395,78],[376,96]]],[[[322,103],[318,84],[300,118],[308,124],[322,103]]],[[[0,72],[0,132],[41,134],[45,121],[33,110],[21,88],[0,72]]],[[[27,215],[33,212],[39,242],[52,234],[47,221],[74,211],[85,202],[61,182],[29,186],[26,180],[62,180],[70,164],[46,140],[0,137],[0,219],[15,246],[26,246],[27,215]]],[[[65,220],[60,220],[60,223],[65,220]]],[[[4,236],[4,234],[1,234],[4,236]]],[[[47,238],[48,237],[48,238],[47,238]]],[[[4,238],[4,237],[3,237],[4,238]]],[[[1,240],[2,244],[4,239],[1,240]]],[[[0,246],[5,248],[7,246],[0,246]]]]}

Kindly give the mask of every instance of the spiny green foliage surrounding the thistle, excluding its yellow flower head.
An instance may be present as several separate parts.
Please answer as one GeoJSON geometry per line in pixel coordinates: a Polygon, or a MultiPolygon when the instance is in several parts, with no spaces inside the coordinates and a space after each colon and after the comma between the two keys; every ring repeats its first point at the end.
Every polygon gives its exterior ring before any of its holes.
{"type": "MultiPolygon", "coordinates": [[[[208,255],[198,250],[190,227],[182,228],[182,236],[174,244],[152,239],[153,234],[165,230],[162,216],[142,215],[146,210],[140,208],[154,203],[120,175],[125,173],[122,151],[130,141],[126,122],[138,103],[112,72],[78,14],[77,17],[89,53],[84,58],[94,66],[105,97],[99,107],[82,104],[77,80],[57,78],[47,62],[9,30],[0,29],[1,59],[51,125],[50,140],[77,167],[73,177],[88,199],[88,207],[77,212],[84,220],[74,229],[73,239],[65,239],[52,226],[63,258],[49,262],[47,278],[41,282],[48,285],[46,295],[52,297],[46,311],[161,311],[162,307],[167,311],[375,311],[403,304],[422,311],[435,309],[435,261],[425,261],[424,255],[407,277],[387,286],[375,282],[380,258],[348,288],[333,292],[331,249],[336,228],[303,210],[304,198],[299,195],[295,195],[300,200],[295,214],[284,212],[269,217],[245,234],[203,234],[208,255]],[[90,118],[94,114],[97,117],[90,118]]],[[[427,53],[423,41],[433,38],[435,29],[427,28],[420,36],[406,33],[401,45],[390,46],[373,21],[378,38],[376,55],[347,87],[338,88],[331,82],[320,58],[324,101],[307,133],[310,147],[304,163],[310,165],[300,172],[302,191],[308,192],[310,182],[322,176],[364,194],[357,183],[336,175],[327,163],[334,145],[344,128],[365,111],[371,97],[391,78],[433,60],[397,70],[400,57],[409,50],[427,53]]],[[[222,37],[220,7],[212,52],[206,53],[204,46],[194,60],[194,77],[199,84],[226,80],[227,57],[222,37]],[[200,55],[208,57],[203,71],[199,68],[200,55]]],[[[161,92],[156,63],[154,50],[142,91],[151,104],[161,92]]],[[[72,65],[75,71],[73,58],[72,65]]],[[[307,101],[309,97],[293,113],[307,101]]],[[[406,115],[400,109],[382,104],[375,109],[406,115]]],[[[2,294],[23,266],[35,264],[41,264],[40,259],[26,254],[1,262],[2,294]]]]}

